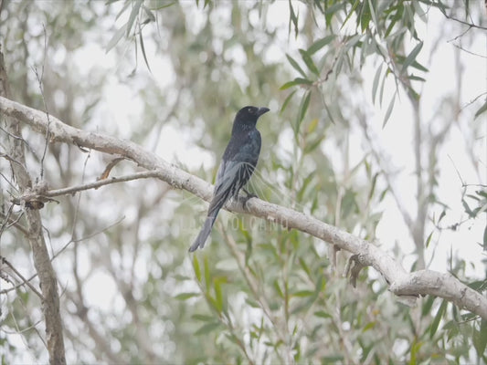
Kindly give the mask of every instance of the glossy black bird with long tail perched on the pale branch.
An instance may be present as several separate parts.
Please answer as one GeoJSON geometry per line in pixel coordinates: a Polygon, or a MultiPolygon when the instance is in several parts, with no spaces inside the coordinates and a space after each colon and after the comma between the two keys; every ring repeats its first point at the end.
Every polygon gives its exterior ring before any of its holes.
{"type": "Polygon", "coordinates": [[[205,246],[206,238],[211,233],[220,209],[228,202],[228,199],[238,197],[238,191],[252,176],[259,161],[261,143],[260,133],[255,125],[259,117],[268,111],[268,108],[256,107],[245,107],[238,110],[235,120],[233,120],[232,136],[218,168],[217,182],[205,224],[193,245],[189,247],[189,252],[205,246]]]}

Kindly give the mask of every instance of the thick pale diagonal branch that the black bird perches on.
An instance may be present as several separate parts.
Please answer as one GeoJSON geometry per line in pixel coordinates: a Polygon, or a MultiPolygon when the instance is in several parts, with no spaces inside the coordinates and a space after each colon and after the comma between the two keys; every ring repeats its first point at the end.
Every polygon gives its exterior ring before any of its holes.
{"type": "MultiPolygon", "coordinates": [[[[165,162],[154,153],[144,151],[142,147],[132,141],[123,141],[101,133],[78,130],[52,116],[49,117],[48,125],[46,115],[42,111],[1,97],[0,109],[40,133],[46,133],[49,126],[51,142],[66,142],[83,148],[121,155],[148,170],[155,170],[159,179],[174,188],[184,189],[206,201],[211,198],[212,186],[210,184],[179,169],[172,163],[165,162]]],[[[447,279],[445,275],[429,270],[409,274],[392,256],[387,255],[376,245],[355,235],[350,235],[333,225],[325,224],[310,215],[257,198],[249,200],[247,209],[243,209],[241,203],[238,202],[229,203],[226,208],[229,211],[252,214],[288,228],[298,229],[354,254],[357,263],[373,266],[380,272],[390,285],[391,291],[399,296],[407,296],[410,299],[420,294],[443,297],[460,308],[466,308],[487,319],[487,298],[463,285],[453,276],[449,276],[447,279]],[[441,281],[443,285],[431,286],[431,277],[443,277],[443,281],[441,281]],[[407,285],[408,283],[411,285],[407,285]]],[[[438,282],[436,283],[438,284],[438,282]]]]}

